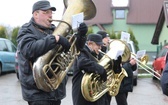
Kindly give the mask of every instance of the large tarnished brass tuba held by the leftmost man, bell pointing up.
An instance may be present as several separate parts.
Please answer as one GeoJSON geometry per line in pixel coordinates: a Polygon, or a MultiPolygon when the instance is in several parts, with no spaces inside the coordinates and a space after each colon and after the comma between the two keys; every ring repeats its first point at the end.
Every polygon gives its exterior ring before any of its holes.
{"type": "Polygon", "coordinates": [[[76,37],[74,35],[69,37],[69,33],[67,33],[69,25],[71,26],[72,24],[72,15],[83,12],[85,20],[91,19],[96,15],[96,7],[92,0],[73,0],[71,2],[64,0],[64,3],[67,3],[66,5],[68,6],[63,15],[63,22],[59,23],[53,35],[62,35],[69,39],[71,43],[69,52],[64,53],[62,47],[57,45],[54,49],[40,56],[33,64],[33,77],[36,85],[46,92],[58,88],[73,64],[75,57],[79,54],[75,46],[76,37]]]}

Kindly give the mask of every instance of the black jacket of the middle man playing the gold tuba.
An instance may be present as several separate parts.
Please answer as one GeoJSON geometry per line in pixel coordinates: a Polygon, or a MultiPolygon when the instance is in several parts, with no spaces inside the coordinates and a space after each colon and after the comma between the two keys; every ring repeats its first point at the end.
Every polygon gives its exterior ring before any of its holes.
{"type": "Polygon", "coordinates": [[[86,101],[81,93],[81,81],[85,72],[93,72],[99,69],[97,61],[93,56],[91,56],[91,51],[87,46],[81,50],[80,55],[75,60],[73,65],[74,73],[72,79],[72,98],[73,105],[108,105],[106,96],[102,96],[95,102],[86,101]]]}

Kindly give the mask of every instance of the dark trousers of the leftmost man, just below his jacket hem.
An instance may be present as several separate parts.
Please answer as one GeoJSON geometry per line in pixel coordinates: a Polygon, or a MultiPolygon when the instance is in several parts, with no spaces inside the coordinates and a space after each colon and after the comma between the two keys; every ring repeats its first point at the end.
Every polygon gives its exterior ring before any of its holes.
{"type": "Polygon", "coordinates": [[[61,101],[29,101],[28,105],[61,105],[61,101]]]}

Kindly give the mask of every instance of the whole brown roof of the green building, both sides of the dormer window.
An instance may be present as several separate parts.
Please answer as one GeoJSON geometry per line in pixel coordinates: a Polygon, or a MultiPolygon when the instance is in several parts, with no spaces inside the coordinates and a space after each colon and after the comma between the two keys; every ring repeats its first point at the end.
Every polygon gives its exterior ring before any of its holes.
{"type": "Polygon", "coordinates": [[[114,7],[112,0],[93,0],[96,16],[85,21],[88,25],[112,24],[112,9],[128,8],[127,24],[156,24],[164,0],[129,0],[128,7],[114,7]]]}

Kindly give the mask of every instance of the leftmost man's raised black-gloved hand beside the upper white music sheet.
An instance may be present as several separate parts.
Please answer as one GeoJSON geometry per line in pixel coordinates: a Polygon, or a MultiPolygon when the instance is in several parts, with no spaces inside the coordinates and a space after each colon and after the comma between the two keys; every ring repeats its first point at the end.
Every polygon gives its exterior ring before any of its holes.
{"type": "Polygon", "coordinates": [[[76,34],[77,41],[76,41],[76,46],[78,50],[83,49],[85,43],[86,43],[86,33],[88,31],[88,27],[85,23],[81,23],[78,32],[76,34]]]}

